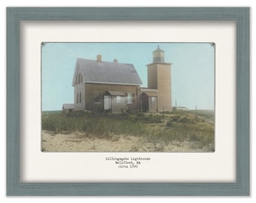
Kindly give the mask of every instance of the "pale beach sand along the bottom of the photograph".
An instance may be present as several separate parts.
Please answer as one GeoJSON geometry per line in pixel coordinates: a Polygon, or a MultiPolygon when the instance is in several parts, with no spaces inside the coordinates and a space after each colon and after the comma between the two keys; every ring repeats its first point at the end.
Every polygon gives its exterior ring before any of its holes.
{"type": "Polygon", "coordinates": [[[56,134],[42,132],[44,152],[207,152],[188,141],[148,141],[133,135],[86,135],[84,132],[56,134]]]}

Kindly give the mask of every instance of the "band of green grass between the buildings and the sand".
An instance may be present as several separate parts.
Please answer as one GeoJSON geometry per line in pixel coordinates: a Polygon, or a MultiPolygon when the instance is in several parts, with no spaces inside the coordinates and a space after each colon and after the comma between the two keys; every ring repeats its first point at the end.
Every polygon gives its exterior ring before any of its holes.
{"type": "MultiPolygon", "coordinates": [[[[174,111],[169,114],[42,114],[42,129],[54,133],[84,132],[105,138],[111,135],[141,136],[162,151],[166,144],[188,141],[191,147],[214,150],[214,125],[203,117],[212,119],[212,111],[174,111]]],[[[212,114],[213,115],[213,114],[212,114]]]]}

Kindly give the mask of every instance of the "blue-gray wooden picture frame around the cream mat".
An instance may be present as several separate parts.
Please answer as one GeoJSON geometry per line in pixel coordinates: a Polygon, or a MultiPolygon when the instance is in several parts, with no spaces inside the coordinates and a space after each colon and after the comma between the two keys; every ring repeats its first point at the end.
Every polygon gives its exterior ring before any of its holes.
{"type": "Polygon", "coordinates": [[[249,15],[249,8],[7,8],[7,195],[249,195],[249,15]],[[235,21],[236,183],[21,183],[21,20],[235,21]]]}

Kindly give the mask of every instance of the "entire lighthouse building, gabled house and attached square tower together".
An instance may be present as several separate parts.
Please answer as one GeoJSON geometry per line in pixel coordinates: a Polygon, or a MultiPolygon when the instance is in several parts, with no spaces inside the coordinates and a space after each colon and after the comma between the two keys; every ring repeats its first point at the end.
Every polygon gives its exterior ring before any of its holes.
{"type": "MultiPolygon", "coordinates": [[[[72,86],[75,111],[172,111],[171,64],[157,47],[148,66],[148,88],[133,64],[77,59],[72,86]]],[[[63,111],[65,108],[63,107],[63,111]]],[[[72,111],[72,110],[69,110],[72,111]]]]}

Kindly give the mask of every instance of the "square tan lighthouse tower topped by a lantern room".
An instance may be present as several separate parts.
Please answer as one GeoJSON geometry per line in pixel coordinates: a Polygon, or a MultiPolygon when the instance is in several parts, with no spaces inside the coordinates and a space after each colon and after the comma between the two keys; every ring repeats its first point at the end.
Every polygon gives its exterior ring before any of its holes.
{"type": "Polygon", "coordinates": [[[148,64],[148,88],[157,89],[157,111],[172,111],[171,63],[165,62],[164,50],[153,51],[153,62],[148,64]]]}

